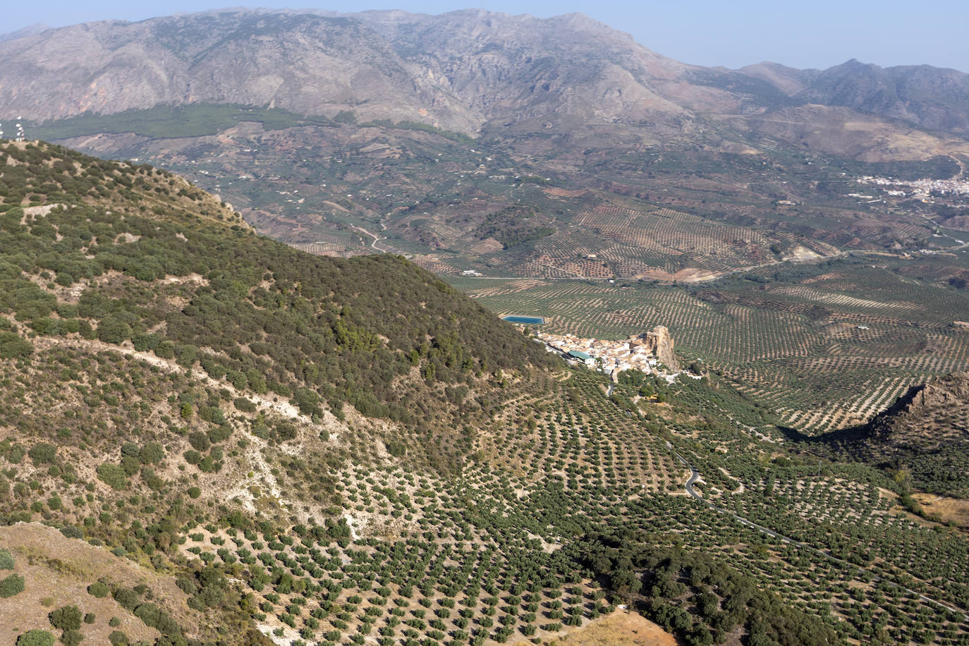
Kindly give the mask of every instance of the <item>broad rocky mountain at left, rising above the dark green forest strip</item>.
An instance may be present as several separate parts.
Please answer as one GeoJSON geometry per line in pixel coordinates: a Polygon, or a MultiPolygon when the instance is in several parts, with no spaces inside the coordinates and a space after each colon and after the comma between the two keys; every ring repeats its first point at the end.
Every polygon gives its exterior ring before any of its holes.
{"type": "Polygon", "coordinates": [[[302,113],[365,106],[403,119],[480,120],[402,61],[358,20],[253,12],[95,22],[0,46],[4,111],[48,119],[194,102],[275,105],[302,113]]]}

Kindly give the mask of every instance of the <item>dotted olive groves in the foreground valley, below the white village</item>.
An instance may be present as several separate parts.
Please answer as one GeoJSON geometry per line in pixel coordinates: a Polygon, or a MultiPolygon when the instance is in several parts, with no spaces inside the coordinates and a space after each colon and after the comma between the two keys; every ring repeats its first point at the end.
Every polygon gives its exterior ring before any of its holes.
{"type": "MultiPolygon", "coordinates": [[[[963,538],[899,515],[867,468],[826,465],[821,473],[758,460],[763,419],[733,395],[688,381],[651,386],[671,407],[626,381],[608,399],[601,376],[569,371],[545,394],[505,402],[461,477],[348,464],[336,475],[344,508],[336,522],[284,533],[199,524],[180,549],[236,573],[257,623],[287,643],[565,637],[622,600],[592,571],[577,569],[570,541],[630,524],[678,558],[715,555],[841,638],[957,643],[947,635],[967,631],[964,618],[940,613],[902,585],[946,602],[969,599],[963,574],[939,574],[950,562],[965,571],[963,538]],[[634,399],[632,407],[621,403],[634,399]],[[685,496],[688,472],[673,450],[702,470],[705,497],[853,565],[685,496]],[[879,538],[884,533],[891,544],[879,538]],[[934,551],[920,554],[922,543],[934,551]]],[[[649,593],[654,600],[659,590],[649,593]]],[[[665,615],[654,616],[672,630],[665,615]]]]}

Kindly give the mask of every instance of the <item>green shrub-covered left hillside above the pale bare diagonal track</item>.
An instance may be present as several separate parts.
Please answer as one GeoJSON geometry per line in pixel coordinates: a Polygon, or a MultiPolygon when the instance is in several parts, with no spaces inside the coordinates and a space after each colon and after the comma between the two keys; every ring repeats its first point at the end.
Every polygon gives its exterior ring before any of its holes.
{"type": "Polygon", "coordinates": [[[241,392],[293,399],[304,415],[342,417],[349,403],[423,433],[453,428],[440,402],[480,415],[502,371],[548,365],[510,325],[402,259],[310,256],[215,206],[210,219],[182,217],[177,202],[152,204],[172,183],[185,200],[192,189],[153,169],[80,170],[77,154],[30,145],[6,154],[0,245],[16,254],[0,261],[0,306],[32,331],[130,344],[241,392]],[[106,185],[120,199],[111,208],[106,185]],[[55,205],[24,211],[13,205],[23,198],[55,205]]]}

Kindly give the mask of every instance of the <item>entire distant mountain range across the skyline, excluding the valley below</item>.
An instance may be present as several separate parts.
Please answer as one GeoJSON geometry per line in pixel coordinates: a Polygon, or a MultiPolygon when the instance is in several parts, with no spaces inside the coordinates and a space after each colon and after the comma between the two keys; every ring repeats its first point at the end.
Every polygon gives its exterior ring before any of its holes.
{"type": "Polygon", "coordinates": [[[227,10],[38,26],[0,38],[0,70],[0,116],[34,122],[231,103],[353,111],[469,135],[488,126],[633,127],[641,138],[758,133],[849,155],[860,151],[839,148],[837,133],[915,126],[938,136],[925,142],[933,149],[969,135],[969,75],[955,70],[854,60],[823,72],[704,68],[580,14],[227,10]]]}

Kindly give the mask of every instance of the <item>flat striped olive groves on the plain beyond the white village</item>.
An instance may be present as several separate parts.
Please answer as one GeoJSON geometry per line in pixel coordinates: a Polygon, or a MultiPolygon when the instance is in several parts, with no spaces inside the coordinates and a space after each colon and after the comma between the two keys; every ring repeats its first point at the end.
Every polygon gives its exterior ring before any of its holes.
{"type": "Polygon", "coordinates": [[[454,284],[496,312],[546,317],[549,331],[623,338],[667,325],[678,353],[722,372],[780,422],[816,434],[866,420],[928,376],[969,368],[969,331],[953,325],[969,312],[969,293],[894,268],[829,262],[795,279],[762,272],[691,289],[454,284]]]}

